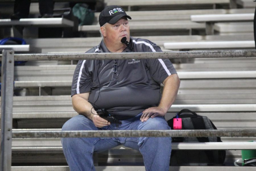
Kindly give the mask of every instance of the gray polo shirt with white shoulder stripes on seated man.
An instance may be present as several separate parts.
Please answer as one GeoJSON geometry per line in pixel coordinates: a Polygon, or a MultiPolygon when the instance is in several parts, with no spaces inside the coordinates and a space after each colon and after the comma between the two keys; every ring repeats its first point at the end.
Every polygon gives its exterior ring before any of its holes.
{"type": "MultiPolygon", "coordinates": [[[[131,37],[133,48],[123,52],[162,52],[146,39],[131,37]]],[[[110,52],[102,40],[86,53],[110,52]]],[[[176,74],[169,59],[79,60],[73,76],[71,95],[90,92],[96,109],[107,109],[119,120],[136,116],[158,106],[160,84],[176,74]],[[116,73],[114,64],[117,64],[116,73]]]]}

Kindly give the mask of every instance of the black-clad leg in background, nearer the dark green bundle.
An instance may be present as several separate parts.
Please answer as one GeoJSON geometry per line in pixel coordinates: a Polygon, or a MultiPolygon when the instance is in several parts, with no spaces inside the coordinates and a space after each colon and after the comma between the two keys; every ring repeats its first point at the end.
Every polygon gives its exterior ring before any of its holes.
{"type": "Polygon", "coordinates": [[[50,18],[53,15],[53,0],[39,0],[39,11],[42,18],[50,18]]]}

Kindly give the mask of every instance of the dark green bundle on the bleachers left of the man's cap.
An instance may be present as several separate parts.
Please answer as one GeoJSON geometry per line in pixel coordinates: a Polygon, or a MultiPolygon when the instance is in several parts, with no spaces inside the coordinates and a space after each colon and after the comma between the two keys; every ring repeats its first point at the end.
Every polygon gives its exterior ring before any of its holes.
{"type": "Polygon", "coordinates": [[[94,21],[94,12],[88,9],[88,5],[77,3],[72,9],[73,15],[79,20],[79,25],[91,25],[94,21]]]}

